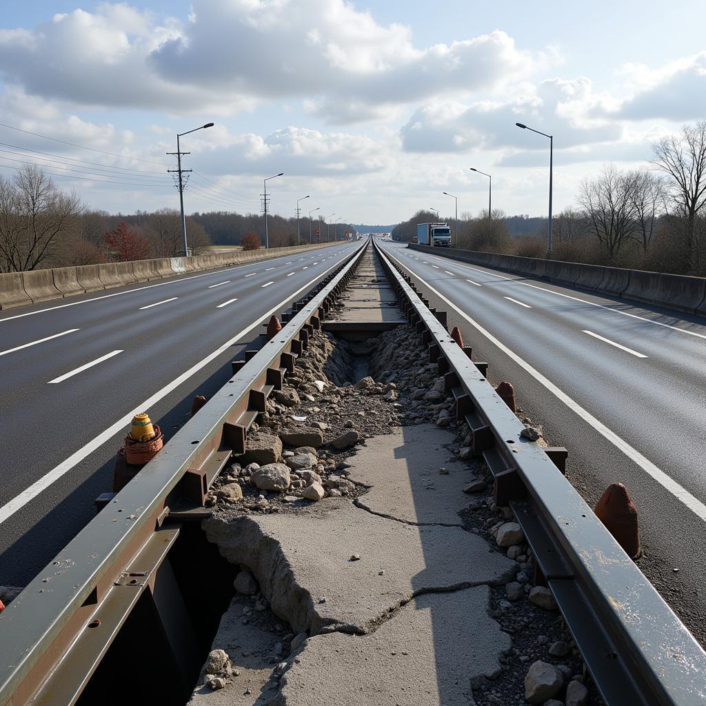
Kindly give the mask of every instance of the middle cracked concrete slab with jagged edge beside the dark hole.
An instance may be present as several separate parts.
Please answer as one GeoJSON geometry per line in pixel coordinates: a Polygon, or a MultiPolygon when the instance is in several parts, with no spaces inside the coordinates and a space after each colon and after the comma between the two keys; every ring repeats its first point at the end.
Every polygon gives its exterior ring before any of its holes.
{"type": "Polygon", "coordinates": [[[273,611],[310,635],[366,633],[415,594],[504,584],[517,568],[460,527],[407,525],[346,498],[273,515],[223,508],[203,527],[222,556],[253,571],[273,611]]]}

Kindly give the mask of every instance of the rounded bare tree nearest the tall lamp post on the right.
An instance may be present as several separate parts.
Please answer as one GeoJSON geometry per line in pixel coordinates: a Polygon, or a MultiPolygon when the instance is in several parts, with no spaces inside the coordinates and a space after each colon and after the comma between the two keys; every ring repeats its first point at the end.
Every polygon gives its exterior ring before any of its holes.
{"type": "Polygon", "coordinates": [[[579,202],[590,232],[609,260],[614,260],[637,229],[633,179],[608,164],[597,179],[582,181],[579,202]]]}

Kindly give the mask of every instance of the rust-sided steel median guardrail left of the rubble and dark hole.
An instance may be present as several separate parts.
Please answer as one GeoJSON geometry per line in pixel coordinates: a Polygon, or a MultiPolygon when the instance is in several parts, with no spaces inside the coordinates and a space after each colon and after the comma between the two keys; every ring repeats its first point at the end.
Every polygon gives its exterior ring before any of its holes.
{"type": "MultiPolygon", "coordinates": [[[[365,248],[295,303],[260,351],[234,362],[228,383],[0,614],[0,705],[73,704],[144,594],[151,614],[161,615],[157,573],[181,523],[210,514],[210,484],[244,453],[265,400],[282,388],[365,248]]],[[[168,623],[162,628],[168,635],[168,623]]]]}

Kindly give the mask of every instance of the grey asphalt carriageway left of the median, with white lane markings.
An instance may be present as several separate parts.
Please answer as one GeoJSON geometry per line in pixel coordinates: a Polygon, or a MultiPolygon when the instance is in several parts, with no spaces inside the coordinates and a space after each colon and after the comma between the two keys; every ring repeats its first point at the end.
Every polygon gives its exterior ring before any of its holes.
{"type": "Polygon", "coordinates": [[[272,313],[361,243],[0,312],[0,585],[25,585],[95,515],[136,412],[165,438],[272,313]]]}

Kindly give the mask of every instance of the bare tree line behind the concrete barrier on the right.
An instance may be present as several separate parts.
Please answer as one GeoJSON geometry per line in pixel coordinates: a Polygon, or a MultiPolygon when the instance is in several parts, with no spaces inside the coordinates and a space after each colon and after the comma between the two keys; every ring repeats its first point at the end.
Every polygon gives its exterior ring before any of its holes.
{"type": "MultiPolygon", "coordinates": [[[[654,143],[650,168],[606,164],[597,177],[584,179],[575,205],[552,218],[551,258],[705,276],[705,207],[706,121],[654,143]]],[[[395,227],[393,239],[412,241],[418,222],[435,220],[421,210],[395,227]]],[[[501,210],[491,217],[487,210],[463,214],[457,244],[543,258],[547,226],[546,218],[508,218],[501,210]]]]}

